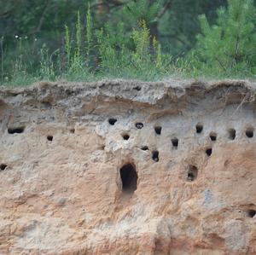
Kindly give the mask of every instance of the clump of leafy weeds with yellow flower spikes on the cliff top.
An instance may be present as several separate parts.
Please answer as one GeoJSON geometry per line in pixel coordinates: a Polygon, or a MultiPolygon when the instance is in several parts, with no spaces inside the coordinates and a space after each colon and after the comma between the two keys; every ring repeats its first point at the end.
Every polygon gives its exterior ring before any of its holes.
{"type": "Polygon", "coordinates": [[[154,53],[150,50],[150,34],[145,21],[133,29],[131,38],[125,38],[123,23],[114,30],[107,24],[96,32],[99,52],[99,72],[115,77],[148,77],[156,75],[162,65],[160,43],[154,38],[154,53]],[[151,72],[149,74],[148,72],[151,72]],[[153,74],[154,73],[154,74],[153,74]]]}

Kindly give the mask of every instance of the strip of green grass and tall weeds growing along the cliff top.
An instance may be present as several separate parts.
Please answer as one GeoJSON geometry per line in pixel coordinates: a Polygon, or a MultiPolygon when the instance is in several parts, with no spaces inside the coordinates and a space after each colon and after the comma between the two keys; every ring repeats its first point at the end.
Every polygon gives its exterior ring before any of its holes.
{"type": "Polygon", "coordinates": [[[161,45],[154,38],[153,43],[144,21],[125,34],[124,25],[119,23],[113,29],[107,24],[101,29],[94,28],[94,22],[87,11],[83,26],[78,12],[74,36],[65,26],[62,49],[49,52],[45,44],[34,52],[29,40],[17,40],[15,58],[3,55],[1,38],[1,85],[26,86],[47,81],[98,81],[123,78],[141,81],[160,81],[166,78],[249,78],[256,75],[247,68],[212,66],[198,59],[195,52],[183,58],[173,58],[163,53],[161,45]],[[38,60],[39,59],[39,60],[38,60]]]}

